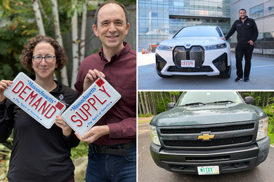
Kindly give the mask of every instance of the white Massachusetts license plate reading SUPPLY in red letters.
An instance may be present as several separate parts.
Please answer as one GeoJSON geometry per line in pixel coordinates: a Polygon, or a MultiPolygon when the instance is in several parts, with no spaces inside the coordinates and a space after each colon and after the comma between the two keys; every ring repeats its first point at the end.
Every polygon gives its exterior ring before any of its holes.
{"type": "Polygon", "coordinates": [[[103,77],[98,78],[63,114],[65,123],[85,134],[121,98],[103,77]]]}

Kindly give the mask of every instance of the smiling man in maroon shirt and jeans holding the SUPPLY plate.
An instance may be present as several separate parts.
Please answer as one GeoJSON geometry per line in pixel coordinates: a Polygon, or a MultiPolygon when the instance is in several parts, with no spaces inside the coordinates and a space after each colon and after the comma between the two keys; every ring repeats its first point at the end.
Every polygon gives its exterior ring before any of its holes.
{"type": "Polygon", "coordinates": [[[81,94],[103,76],[122,97],[89,132],[75,133],[91,143],[86,181],[136,181],[136,51],[123,41],[129,30],[126,8],[107,1],[94,19],[102,47],[81,62],[74,86],[81,94]]]}

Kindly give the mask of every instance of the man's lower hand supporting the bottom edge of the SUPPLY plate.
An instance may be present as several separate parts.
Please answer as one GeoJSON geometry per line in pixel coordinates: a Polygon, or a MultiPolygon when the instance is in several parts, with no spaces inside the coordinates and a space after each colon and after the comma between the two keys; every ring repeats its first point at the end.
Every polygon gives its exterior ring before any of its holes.
{"type": "Polygon", "coordinates": [[[95,126],[95,127],[91,127],[91,130],[83,134],[82,137],[79,134],[77,134],[77,132],[75,132],[74,134],[81,141],[93,143],[93,141],[96,141],[103,135],[110,134],[110,128],[107,125],[95,126]]]}

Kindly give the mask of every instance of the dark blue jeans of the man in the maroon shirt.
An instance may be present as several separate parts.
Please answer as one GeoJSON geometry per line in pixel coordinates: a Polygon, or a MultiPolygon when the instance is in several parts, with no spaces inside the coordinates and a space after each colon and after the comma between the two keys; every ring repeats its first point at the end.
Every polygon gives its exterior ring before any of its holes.
{"type": "Polygon", "coordinates": [[[108,155],[89,147],[86,182],[136,181],[136,146],[126,151],[127,155],[108,155]]]}

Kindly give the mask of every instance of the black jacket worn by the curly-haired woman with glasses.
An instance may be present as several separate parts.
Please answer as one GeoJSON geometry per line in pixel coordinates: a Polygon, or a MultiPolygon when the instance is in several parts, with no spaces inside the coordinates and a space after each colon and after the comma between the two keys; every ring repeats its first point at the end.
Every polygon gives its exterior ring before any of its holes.
{"type": "MultiPolygon", "coordinates": [[[[70,87],[58,84],[50,93],[66,107],[78,94],[70,87]]],[[[13,131],[8,181],[42,182],[69,181],[74,177],[70,148],[79,144],[74,134],[63,136],[62,129],[53,124],[51,129],[34,120],[25,111],[6,99],[0,104],[0,142],[6,141],[13,131]]]]}

